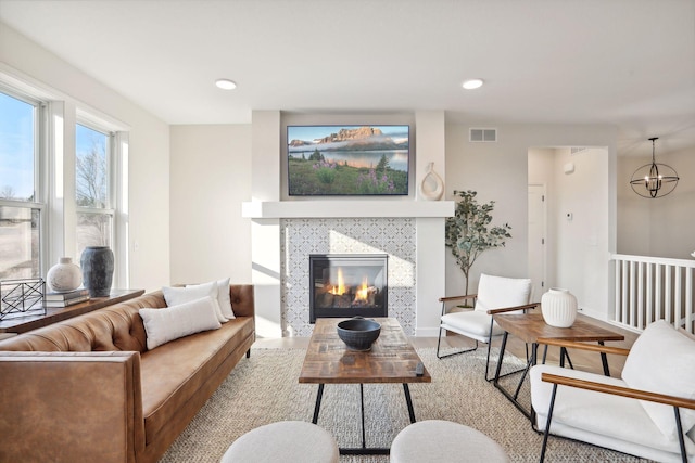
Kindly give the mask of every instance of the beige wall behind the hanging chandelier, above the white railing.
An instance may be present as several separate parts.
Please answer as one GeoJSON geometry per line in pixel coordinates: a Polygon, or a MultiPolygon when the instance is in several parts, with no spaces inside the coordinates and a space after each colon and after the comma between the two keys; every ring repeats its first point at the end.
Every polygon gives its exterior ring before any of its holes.
{"type": "Polygon", "coordinates": [[[658,150],[657,144],[656,162],[673,167],[680,177],[675,190],[660,198],[641,197],[629,184],[636,168],[649,164],[652,156],[618,158],[618,253],[691,259],[695,250],[695,156],[690,151],[658,150]]]}

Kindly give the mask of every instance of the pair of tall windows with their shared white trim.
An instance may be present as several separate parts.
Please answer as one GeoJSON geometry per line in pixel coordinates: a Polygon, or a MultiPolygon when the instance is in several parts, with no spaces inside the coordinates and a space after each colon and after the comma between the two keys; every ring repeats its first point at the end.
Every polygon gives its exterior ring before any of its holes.
{"type": "Polygon", "coordinates": [[[127,285],[123,128],[0,73],[0,280],[42,278],[61,257],[109,246],[114,284],[127,285]]]}

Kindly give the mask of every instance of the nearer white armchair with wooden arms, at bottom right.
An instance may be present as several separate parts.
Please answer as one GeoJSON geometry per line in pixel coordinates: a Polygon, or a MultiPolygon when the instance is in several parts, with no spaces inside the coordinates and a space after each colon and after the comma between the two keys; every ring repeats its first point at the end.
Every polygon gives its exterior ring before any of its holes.
{"type": "Polygon", "coordinates": [[[568,437],[659,462],[695,462],[695,338],[664,320],[631,349],[539,339],[546,345],[628,355],[622,377],[556,365],[531,369],[535,425],[568,437]]]}

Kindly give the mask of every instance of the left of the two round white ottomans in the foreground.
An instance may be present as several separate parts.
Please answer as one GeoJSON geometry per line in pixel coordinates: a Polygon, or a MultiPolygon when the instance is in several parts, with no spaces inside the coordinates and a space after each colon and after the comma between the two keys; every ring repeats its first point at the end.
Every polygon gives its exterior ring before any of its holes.
{"type": "Polygon", "coordinates": [[[256,427],[233,441],[222,463],[338,463],[336,439],[303,421],[281,421],[256,427]]]}

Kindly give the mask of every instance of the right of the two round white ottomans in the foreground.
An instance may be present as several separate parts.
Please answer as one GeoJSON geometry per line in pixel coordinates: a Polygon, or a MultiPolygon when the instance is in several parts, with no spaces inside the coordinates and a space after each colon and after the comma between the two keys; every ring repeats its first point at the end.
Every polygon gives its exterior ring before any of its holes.
{"type": "Polygon", "coordinates": [[[408,425],[391,443],[391,463],[508,463],[502,447],[472,427],[428,420],[408,425]]]}

